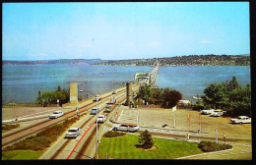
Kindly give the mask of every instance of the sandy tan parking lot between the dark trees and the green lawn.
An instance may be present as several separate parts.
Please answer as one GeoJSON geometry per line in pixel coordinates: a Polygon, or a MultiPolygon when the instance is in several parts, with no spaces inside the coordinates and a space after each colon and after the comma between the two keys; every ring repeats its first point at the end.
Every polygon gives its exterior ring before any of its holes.
{"type": "MultiPolygon", "coordinates": [[[[188,130],[188,114],[190,117],[190,132],[196,133],[199,127],[199,112],[190,109],[177,109],[175,128],[171,109],[129,109],[122,106],[119,108],[118,113],[118,123],[136,123],[142,130],[148,128],[149,131],[153,132],[166,132],[165,130],[170,130],[170,133],[173,133],[173,130],[177,130],[180,131],[180,134],[185,134],[188,130]],[[162,128],[165,130],[161,131],[160,129],[162,128]]],[[[233,125],[230,124],[230,117],[217,118],[210,117],[210,115],[201,115],[202,134],[215,137],[216,130],[218,130],[219,138],[223,138],[225,134],[226,138],[251,140],[251,124],[233,125]]]]}

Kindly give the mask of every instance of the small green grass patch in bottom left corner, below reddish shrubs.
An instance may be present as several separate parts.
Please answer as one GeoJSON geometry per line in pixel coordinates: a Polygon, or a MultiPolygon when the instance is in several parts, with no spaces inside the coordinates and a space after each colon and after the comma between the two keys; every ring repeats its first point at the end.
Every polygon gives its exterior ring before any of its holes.
{"type": "Polygon", "coordinates": [[[2,152],[2,160],[33,160],[37,159],[44,150],[11,150],[2,152]]]}

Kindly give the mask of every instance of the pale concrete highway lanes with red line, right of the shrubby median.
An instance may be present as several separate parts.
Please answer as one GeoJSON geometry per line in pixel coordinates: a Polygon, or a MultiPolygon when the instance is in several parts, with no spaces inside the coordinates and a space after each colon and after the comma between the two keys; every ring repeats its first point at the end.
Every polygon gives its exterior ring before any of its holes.
{"type": "MultiPolygon", "coordinates": [[[[138,86],[133,89],[138,90],[138,86]]],[[[98,139],[112,127],[109,119],[114,114],[116,105],[126,100],[126,93],[120,93],[116,98],[117,101],[115,104],[112,104],[113,110],[110,113],[103,113],[106,101],[98,105],[100,109],[99,114],[107,116],[107,120],[103,124],[98,123],[98,139]]],[[[82,129],[79,137],[65,138],[65,134],[63,134],[39,159],[94,159],[96,157],[96,115],[90,115],[88,113],[72,127],[82,129]]]]}

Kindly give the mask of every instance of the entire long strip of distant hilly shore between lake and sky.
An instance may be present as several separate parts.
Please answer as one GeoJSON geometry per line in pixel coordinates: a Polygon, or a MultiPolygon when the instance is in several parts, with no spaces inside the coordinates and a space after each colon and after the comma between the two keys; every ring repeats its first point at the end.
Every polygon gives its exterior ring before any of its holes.
{"type": "Polygon", "coordinates": [[[60,59],[13,61],[3,60],[3,65],[38,65],[38,64],[68,64],[68,65],[103,65],[103,66],[250,66],[250,55],[189,55],[175,57],[161,57],[148,59],[128,60],[101,60],[101,59],[60,59]]]}

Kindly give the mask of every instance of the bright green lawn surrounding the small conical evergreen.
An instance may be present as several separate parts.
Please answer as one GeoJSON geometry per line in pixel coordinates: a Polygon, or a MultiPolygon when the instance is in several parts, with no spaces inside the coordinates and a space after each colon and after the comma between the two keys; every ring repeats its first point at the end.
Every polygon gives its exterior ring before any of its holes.
{"type": "Polygon", "coordinates": [[[108,158],[114,159],[173,159],[203,153],[198,148],[198,143],[161,138],[153,138],[155,146],[159,149],[145,151],[136,148],[135,145],[139,144],[138,138],[138,136],[132,135],[118,138],[101,138],[99,158],[105,159],[106,153],[108,153],[108,158]]]}

